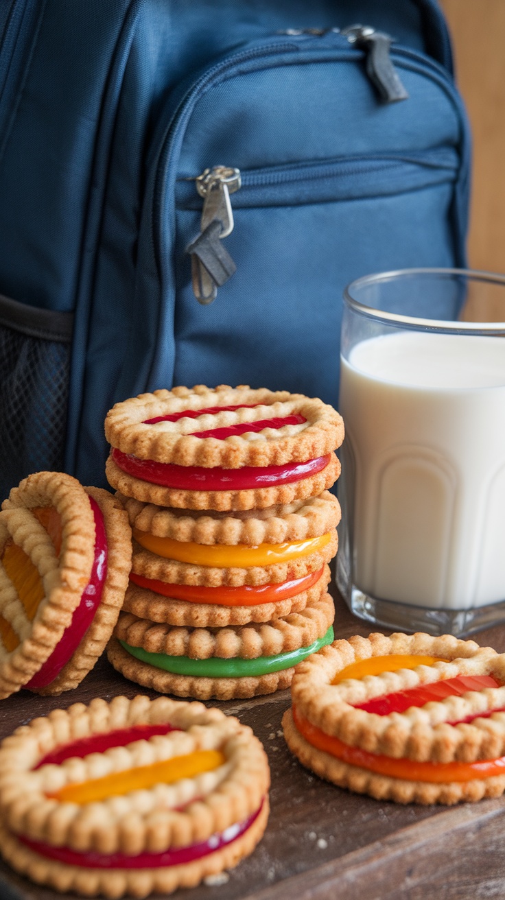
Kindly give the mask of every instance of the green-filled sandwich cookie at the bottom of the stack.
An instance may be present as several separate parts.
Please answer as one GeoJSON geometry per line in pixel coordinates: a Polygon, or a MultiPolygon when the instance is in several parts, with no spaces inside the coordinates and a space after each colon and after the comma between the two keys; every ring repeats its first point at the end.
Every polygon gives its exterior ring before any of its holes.
{"type": "Polygon", "coordinates": [[[171,628],[123,613],[108,648],[115,669],[146,688],[200,700],[289,687],[294,666],[333,640],[329,594],[302,613],[243,628],[171,628]]]}

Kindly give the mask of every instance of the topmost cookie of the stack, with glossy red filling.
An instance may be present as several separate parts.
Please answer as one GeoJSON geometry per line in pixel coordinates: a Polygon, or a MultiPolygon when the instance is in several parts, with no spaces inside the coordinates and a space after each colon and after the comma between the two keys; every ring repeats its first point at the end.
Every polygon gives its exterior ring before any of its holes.
{"type": "Polygon", "coordinates": [[[325,491],[344,426],[318,399],[196,385],[117,403],[106,474],[137,500],[182,509],[265,509],[325,491]]]}

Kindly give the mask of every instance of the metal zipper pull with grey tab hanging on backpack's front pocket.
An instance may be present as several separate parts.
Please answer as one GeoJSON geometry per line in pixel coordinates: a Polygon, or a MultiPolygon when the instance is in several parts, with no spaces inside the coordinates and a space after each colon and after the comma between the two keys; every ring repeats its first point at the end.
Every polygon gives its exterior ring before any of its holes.
{"type": "Polygon", "coordinates": [[[199,303],[216,299],[217,289],[237,270],[221,238],[233,230],[230,193],[240,187],[239,169],[214,166],[195,179],[196,190],[203,197],[201,232],[188,247],[191,254],[193,292],[199,303]]]}

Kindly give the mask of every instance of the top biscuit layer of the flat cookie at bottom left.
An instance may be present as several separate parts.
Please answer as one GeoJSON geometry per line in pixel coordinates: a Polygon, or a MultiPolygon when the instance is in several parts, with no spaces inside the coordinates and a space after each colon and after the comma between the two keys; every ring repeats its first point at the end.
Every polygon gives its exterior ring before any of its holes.
{"type": "Polygon", "coordinates": [[[268,786],[266,754],[248,726],[201,703],[167,698],[96,698],[87,707],[54,710],[16,729],[0,748],[0,815],[6,827],[80,852],[136,855],[206,841],[256,813],[268,786]],[[139,725],[167,725],[167,733],[158,728],[148,738],[121,734],[139,725]],[[108,733],[110,746],[101,752],[54,756],[92,735],[104,742],[108,733]],[[151,766],[176,757],[191,761],[199,752],[213,752],[217,760],[200,775],[169,783],[159,777],[151,787],[126,792],[114,788],[119,773],[128,779],[143,769],[149,776],[151,766]],[[92,795],[95,801],[87,801],[92,795]]]}

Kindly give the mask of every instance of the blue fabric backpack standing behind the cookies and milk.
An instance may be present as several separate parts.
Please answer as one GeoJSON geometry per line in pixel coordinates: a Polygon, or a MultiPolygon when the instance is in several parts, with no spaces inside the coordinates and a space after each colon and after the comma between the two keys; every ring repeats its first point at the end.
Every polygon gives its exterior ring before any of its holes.
{"type": "Polygon", "coordinates": [[[160,387],[337,405],[344,285],[464,266],[435,0],[4,0],[0,36],[2,496],[103,485],[106,411],[160,387]]]}

